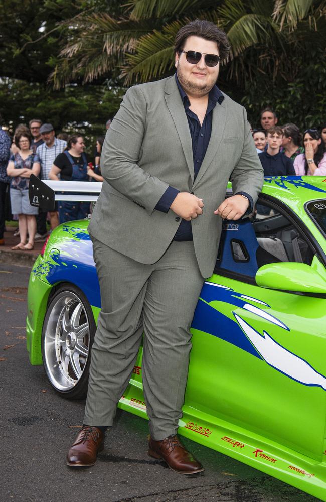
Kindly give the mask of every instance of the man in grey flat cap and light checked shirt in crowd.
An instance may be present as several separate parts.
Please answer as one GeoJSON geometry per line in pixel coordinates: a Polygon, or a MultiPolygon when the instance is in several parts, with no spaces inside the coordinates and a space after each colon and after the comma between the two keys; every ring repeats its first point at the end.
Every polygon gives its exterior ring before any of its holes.
{"type": "MultiPolygon", "coordinates": [[[[44,143],[42,143],[42,145],[38,146],[36,149],[37,157],[35,159],[35,162],[40,164],[41,180],[48,180],[53,161],[57,157],[57,155],[61,154],[64,151],[67,146],[67,142],[56,138],[54,127],[49,123],[45,123],[40,127],[40,134],[44,143]]],[[[54,229],[59,225],[58,210],[51,211],[49,214],[51,228],[54,229]]],[[[39,214],[36,217],[36,241],[43,241],[47,237],[46,220],[47,212],[39,209],[39,214]]]]}

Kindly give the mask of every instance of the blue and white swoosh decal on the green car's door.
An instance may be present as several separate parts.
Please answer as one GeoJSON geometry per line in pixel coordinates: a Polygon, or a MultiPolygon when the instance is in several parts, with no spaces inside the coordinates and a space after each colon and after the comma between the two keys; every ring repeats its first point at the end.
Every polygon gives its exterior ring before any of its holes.
{"type": "MultiPolygon", "coordinates": [[[[232,311],[234,319],[219,310],[221,303],[234,305],[266,321],[290,331],[280,319],[258,305],[270,306],[257,298],[237,293],[220,284],[205,282],[197,304],[192,328],[221,338],[265,361],[269,366],[304,385],[326,390],[326,378],[307,361],[277,343],[266,331],[261,335],[239,313],[232,311]],[[256,304],[256,305],[253,305],[256,304]]],[[[223,306],[225,311],[225,305],[223,306]]],[[[231,310],[230,310],[231,314],[231,310]]]]}

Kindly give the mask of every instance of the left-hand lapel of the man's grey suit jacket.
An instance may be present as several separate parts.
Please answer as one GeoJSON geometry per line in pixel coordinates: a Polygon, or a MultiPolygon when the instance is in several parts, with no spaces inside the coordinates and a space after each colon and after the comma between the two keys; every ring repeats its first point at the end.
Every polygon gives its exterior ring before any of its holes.
{"type": "Polygon", "coordinates": [[[171,79],[168,80],[165,92],[165,100],[179,135],[192,183],[194,183],[195,171],[191,135],[185,108],[175,81],[175,77],[171,77],[171,79]]]}

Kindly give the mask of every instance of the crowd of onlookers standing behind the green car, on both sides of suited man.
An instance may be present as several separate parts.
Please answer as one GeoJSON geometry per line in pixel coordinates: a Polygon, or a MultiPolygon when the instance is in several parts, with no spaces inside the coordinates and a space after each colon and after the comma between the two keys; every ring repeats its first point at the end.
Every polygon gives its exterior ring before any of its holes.
{"type": "MultiPolygon", "coordinates": [[[[326,176],[326,123],[301,133],[291,122],[278,126],[271,108],[261,111],[260,123],[260,128],[252,129],[252,136],[265,176],[326,176]]],[[[106,129],[110,124],[108,120],[106,129]]],[[[29,127],[20,124],[13,142],[0,129],[0,245],[5,243],[9,214],[18,218],[15,233],[20,241],[13,249],[21,250],[32,250],[35,241],[46,239],[47,220],[52,231],[59,223],[87,217],[90,205],[85,202],[61,201],[51,212],[31,206],[29,178],[34,174],[42,180],[103,181],[100,155],[104,138],[96,140],[93,164],[86,156],[83,136],[56,136],[52,124],[38,118],[30,120],[29,127]]]]}

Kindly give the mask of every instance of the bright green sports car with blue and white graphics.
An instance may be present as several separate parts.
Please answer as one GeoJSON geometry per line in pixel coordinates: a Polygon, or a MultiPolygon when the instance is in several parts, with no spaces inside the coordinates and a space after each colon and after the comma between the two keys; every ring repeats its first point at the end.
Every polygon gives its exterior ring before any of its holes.
{"type": "MultiPolygon", "coordinates": [[[[30,361],[72,399],[101,308],[87,226],[52,232],[28,288],[30,361]]],[[[255,216],[225,221],[192,334],[179,433],[326,500],[326,179],[265,178],[255,216]]],[[[146,418],[141,359],[119,407],[146,418]]]]}

